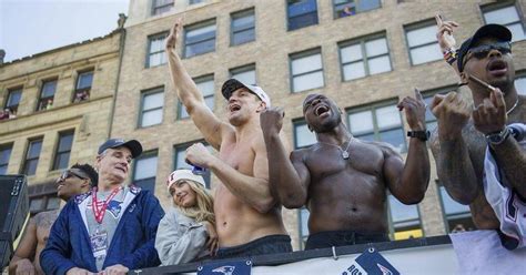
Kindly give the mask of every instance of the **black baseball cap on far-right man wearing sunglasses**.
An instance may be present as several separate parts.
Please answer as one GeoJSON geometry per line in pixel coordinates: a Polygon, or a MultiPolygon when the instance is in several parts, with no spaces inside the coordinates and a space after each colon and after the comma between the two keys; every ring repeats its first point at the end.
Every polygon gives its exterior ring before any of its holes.
{"type": "Polygon", "coordinates": [[[502,24],[485,24],[481,27],[475,34],[466,39],[466,41],[462,43],[461,49],[458,49],[458,59],[456,63],[459,72],[464,70],[464,58],[469,52],[469,49],[472,49],[483,38],[495,38],[498,42],[509,42],[512,41],[512,32],[508,28],[502,24]]]}

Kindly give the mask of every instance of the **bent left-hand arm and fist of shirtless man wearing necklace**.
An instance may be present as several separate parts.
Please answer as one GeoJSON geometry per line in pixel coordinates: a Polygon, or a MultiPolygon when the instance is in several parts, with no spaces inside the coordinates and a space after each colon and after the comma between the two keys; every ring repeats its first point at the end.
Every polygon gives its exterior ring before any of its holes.
{"type": "Polygon", "coordinates": [[[307,200],[310,173],[301,153],[292,153],[280,136],[283,110],[271,109],[261,113],[261,129],[269,157],[271,193],[287,208],[300,208],[307,200]],[[292,162],[291,162],[292,160],[292,162]]]}

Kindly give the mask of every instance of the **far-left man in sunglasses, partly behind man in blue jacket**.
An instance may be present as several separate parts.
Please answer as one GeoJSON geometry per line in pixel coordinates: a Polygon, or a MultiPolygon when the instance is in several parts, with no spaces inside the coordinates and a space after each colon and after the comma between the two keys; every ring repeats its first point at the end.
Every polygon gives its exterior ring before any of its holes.
{"type": "MultiPolygon", "coordinates": [[[[91,165],[74,164],[57,180],[57,194],[68,201],[74,195],[89,192],[97,182],[97,172],[91,165]]],[[[9,265],[9,274],[44,274],[40,266],[40,252],[45,247],[49,231],[59,213],[60,210],[41,212],[29,221],[9,265]]]]}

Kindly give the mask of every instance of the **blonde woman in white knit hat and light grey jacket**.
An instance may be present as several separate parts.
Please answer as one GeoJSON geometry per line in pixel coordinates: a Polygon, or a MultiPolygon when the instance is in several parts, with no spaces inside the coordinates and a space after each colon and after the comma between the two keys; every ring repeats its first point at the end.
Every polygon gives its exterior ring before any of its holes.
{"type": "Polygon", "coordinates": [[[178,265],[214,255],[218,234],[213,197],[204,179],[176,170],[166,181],[173,205],[159,223],[155,249],[162,265],[178,265]]]}

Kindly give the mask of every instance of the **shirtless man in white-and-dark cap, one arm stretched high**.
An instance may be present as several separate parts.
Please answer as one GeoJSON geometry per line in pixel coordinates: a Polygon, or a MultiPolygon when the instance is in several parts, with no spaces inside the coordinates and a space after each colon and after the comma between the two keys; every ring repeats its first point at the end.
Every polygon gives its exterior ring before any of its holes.
{"type": "Polygon", "coordinates": [[[214,202],[218,257],[291,252],[281,207],[269,187],[269,161],[260,128],[260,113],[271,101],[261,88],[231,79],[222,88],[229,101],[229,123],[220,121],[206,106],[174,49],[181,30],[179,20],[166,38],[166,54],[179,99],[206,142],[219,151],[215,157],[201,143],[186,151],[190,163],[210,169],[221,181],[214,202]]]}

